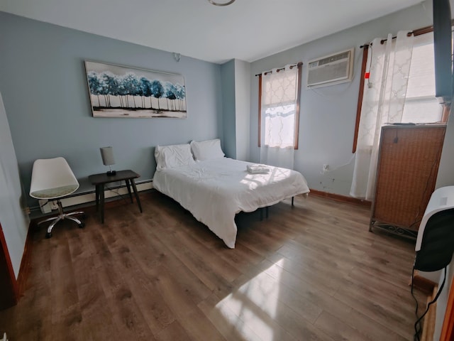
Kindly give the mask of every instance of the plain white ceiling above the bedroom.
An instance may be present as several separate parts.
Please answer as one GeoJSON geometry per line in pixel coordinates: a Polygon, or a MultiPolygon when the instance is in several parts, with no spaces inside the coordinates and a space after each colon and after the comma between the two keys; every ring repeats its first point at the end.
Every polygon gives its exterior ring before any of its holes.
{"type": "Polygon", "coordinates": [[[253,62],[419,3],[236,0],[220,7],[207,0],[0,0],[0,11],[223,63],[253,62]]]}

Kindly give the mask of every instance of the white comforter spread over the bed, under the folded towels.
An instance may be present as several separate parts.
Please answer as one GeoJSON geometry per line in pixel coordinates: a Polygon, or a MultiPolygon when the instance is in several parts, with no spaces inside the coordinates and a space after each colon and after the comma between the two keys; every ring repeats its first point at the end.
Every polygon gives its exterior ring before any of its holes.
{"type": "Polygon", "coordinates": [[[297,171],[270,166],[270,173],[250,174],[248,164],[216,158],[156,171],[153,187],[179,202],[233,249],[238,212],[253,212],[309,193],[306,179],[297,171]]]}

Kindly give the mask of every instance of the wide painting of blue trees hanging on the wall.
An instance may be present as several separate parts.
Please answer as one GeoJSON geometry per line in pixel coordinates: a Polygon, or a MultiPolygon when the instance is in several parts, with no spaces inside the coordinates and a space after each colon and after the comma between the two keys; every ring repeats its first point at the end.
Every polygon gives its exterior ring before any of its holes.
{"type": "Polygon", "coordinates": [[[93,117],[186,119],[182,75],[84,60],[93,117]]]}

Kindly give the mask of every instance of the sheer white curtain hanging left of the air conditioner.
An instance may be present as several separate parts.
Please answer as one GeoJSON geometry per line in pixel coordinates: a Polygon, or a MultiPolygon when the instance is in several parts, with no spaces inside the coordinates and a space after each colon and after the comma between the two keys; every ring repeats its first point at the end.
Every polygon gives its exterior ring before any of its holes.
{"type": "Polygon", "coordinates": [[[262,74],[260,163],[292,169],[297,115],[298,67],[262,74]]]}

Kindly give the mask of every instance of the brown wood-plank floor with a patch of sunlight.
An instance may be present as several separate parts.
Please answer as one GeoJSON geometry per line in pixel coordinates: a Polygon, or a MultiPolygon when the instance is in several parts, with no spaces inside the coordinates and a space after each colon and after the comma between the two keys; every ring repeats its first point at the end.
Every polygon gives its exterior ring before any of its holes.
{"type": "MultiPolygon", "coordinates": [[[[237,215],[225,247],[176,202],[93,207],[86,227],[33,234],[13,340],[413,340],[411,242],[368,232],[369,210],[309,195],[237,215]]],[[[425,298],[418,293],[420,305],[425,298]]],[[[421,314],[421,312],[420,312],[421,314]]]]}

